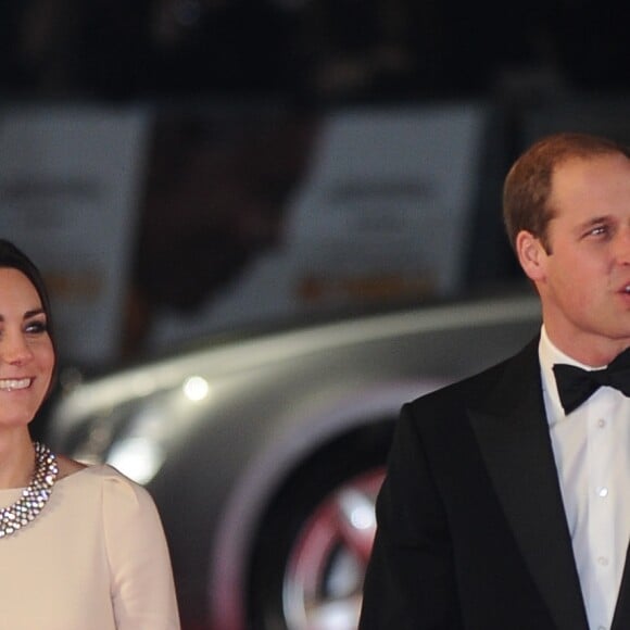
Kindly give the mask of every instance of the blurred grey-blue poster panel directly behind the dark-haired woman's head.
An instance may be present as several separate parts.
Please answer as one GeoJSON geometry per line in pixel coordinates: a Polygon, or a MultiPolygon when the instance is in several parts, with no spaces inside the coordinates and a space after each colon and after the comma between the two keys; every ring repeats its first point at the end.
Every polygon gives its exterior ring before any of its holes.
{"type": "Polygon", "coordinates": [[[63,361],[119,356],[149,118],[91,105],[0,112],[0,235],[47,276],[63,361]]]}

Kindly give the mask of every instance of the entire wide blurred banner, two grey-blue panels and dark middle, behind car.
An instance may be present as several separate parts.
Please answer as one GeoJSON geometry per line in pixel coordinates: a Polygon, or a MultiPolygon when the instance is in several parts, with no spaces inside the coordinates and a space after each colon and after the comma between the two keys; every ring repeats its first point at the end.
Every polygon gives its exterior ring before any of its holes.
{"type": "Polygon", "coordinates": [[[462,288],[489,111],[5,109],[0,234],[86,366],[462,288]],[[124,346],[124,348],[123,348],[124,346]]]}

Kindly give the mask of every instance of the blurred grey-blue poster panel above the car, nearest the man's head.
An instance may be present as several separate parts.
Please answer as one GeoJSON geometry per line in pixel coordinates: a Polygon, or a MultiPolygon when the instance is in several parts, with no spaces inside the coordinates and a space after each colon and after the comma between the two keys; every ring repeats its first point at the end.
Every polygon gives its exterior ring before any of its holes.
{"type": "Polygon", "coordinates": [[[295,299],[339,304],[459,289],[484,123],[486,110],[466,104],[331,116],[289,212],[295,299]]]}

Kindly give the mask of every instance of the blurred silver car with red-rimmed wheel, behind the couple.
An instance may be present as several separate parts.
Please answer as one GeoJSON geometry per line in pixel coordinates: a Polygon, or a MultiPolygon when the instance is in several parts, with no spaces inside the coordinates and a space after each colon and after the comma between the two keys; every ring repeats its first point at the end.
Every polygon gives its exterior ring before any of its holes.
{"type": "Polygon", "coordinates": [[[539,327],[512,294],[215,337],[78,382],[48,439],[152,492],[185,630],[352,630],[401,404],[539,327]]]}

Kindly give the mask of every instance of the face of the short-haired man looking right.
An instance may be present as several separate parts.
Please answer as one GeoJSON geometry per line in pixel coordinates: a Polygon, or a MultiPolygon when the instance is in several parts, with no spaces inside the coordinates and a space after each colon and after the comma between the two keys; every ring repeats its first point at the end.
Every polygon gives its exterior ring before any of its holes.
{"type": "Polygon", "coordinates": [[[550,204],[550,252],[537,241],[532,278],[545,328],[570,356],[606,364],[630,345],[630,160],[568,161],[554,172],[550,204]]]}

